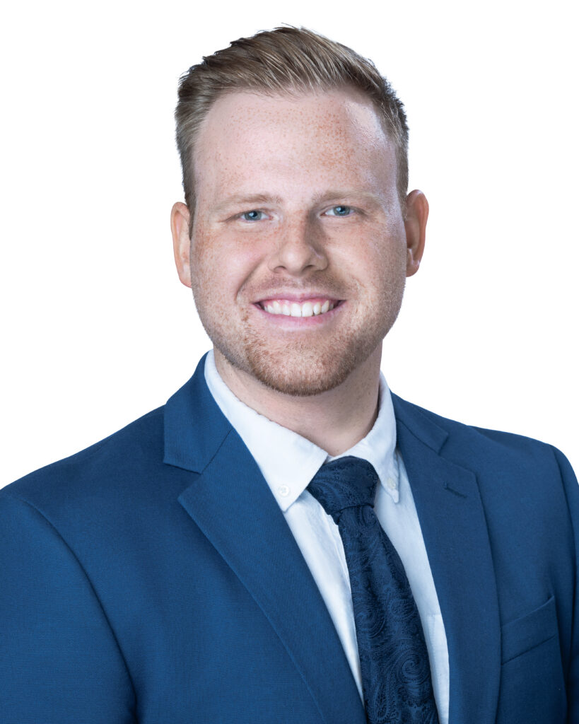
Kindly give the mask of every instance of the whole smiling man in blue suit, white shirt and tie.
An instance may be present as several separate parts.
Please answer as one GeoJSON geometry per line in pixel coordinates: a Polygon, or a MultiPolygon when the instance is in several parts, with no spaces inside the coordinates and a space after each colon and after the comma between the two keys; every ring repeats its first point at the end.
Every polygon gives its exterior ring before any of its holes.
{"type": "Polygon", "coordinates": [[[278,28],[192,67],[176,118],[214,350],[1,491],[3,721],[578,721],[569,464],[380,373],[428,216],[402,104],[278,28]]]}

